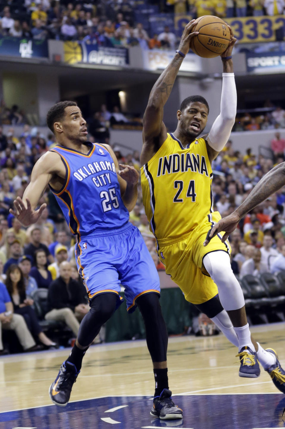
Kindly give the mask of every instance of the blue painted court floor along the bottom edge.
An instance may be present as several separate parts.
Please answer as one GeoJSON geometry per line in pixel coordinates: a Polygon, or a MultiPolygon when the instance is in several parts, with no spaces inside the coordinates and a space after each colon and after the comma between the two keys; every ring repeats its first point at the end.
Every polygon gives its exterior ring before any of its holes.
{"type": "Polygon", "coordinates": [[[176,427],[191,429],[265,429],[285,427],[285,396],[193,395],[176,396],[183,420],[154,419],[150,397],[105,397],[9,411],[0,414],[1,429],[140,429],[176,427]]]}

